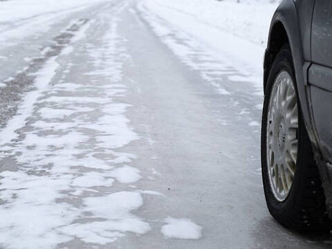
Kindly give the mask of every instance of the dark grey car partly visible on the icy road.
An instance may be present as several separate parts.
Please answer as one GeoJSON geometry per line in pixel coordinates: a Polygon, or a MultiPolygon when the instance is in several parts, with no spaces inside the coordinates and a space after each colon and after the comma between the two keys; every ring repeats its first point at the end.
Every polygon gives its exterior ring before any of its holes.
{"type": "Polygon", "coordinates": [[[301,231],[331,228],[331,0],[284,0],[273,15],[261,169],[268,210],[279,223],[301,231]]]}

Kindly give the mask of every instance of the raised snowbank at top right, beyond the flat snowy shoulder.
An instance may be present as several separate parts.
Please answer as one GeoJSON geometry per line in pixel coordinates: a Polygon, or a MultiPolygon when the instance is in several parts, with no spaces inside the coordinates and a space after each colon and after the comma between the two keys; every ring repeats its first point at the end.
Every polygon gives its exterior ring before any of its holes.
{"type": "MultiPolygon", "coordinates": [[[[247,1],[245,4],[216,0],[147,0],[147,6],[160,15],[167,15],[169,12],[177,15],[176,12],[178,12],[191,17],[196,22],[265,46],[270,19],[277,8],[277,3],[269,1],[247,1]]],[[[181,21],[179,21],[180,24],[181,21]]],[[[196,26],[193,25],[191,30],[194,29],[196,26]]],[[[201,36],[204,37],[204,33],[201,33],[201,36]]],[[[215,38],[219,38],[219,42],[222,42],[222,37],[216,35],[215,38]]]]}

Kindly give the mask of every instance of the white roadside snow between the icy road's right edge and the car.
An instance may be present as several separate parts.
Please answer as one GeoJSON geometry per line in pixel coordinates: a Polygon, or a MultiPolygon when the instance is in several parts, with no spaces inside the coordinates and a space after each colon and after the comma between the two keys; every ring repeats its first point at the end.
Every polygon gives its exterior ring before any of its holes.
{"type": "MultiPolygon", "coordinates": [[[[276,8],[276,3],[204,0],[146,0],[138,7],[160,37],[165,39],[173,32],[167,24],[177,28],[210,50],[210,57],[226,60],[259,91],[270,19],[276,8]]],[[[178,54],[185,52],[183,47],[176,49],[178,54]]]]}

